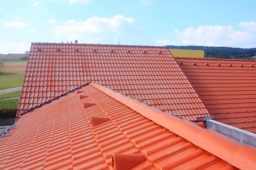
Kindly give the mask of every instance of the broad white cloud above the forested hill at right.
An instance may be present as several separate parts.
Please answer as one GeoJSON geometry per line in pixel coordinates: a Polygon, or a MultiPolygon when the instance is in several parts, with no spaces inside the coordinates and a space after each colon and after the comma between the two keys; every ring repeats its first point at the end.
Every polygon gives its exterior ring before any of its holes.
{"type": "Polygon", "coordinates": [[[232,26],[198,26],[175,30],[182,45],[230,46],[250,48],[256,45],[255,35],[236,31],[232,26]]]}

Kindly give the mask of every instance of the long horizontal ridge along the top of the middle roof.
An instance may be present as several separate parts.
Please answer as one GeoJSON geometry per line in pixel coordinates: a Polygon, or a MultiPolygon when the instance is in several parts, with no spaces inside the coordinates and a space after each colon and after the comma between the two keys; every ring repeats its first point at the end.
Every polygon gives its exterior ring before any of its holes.
{"type": "MultiPolygon", "coordinates": [[[[95,46],[122,46],[122,47],[157,47],[167,48],[167,46],[154,46],[154,45],[121,45],[121,44],[87,44],[87,43],[56,43],[56,42],[31,42],[32,44],[53,44],[53,45],[95,45],[95,46]]],[[[167,48],[168,49],[168,48],[167,48]]]]}

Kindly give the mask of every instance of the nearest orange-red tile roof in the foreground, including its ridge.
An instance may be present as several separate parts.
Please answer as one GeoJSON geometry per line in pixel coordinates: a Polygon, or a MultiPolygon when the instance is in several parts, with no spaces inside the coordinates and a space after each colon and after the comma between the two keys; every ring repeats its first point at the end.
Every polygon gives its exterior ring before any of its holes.
{"type": "Polygon", "coordinates": [[[23,114],[9,133],[1,170],[256,167],[255,147],[95,83],[23,114]],[[93,126],[93,116],[105,120],[93,126]]]}

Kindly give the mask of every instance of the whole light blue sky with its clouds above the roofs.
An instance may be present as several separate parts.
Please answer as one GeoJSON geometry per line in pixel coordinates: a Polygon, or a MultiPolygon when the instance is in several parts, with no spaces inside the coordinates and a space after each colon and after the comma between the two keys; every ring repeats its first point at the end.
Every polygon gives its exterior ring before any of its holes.
{"type": "Polygon", "coordinates": [[[0,54],[31,42],[256,47],[255,0],[1,0],[0,54]]]}

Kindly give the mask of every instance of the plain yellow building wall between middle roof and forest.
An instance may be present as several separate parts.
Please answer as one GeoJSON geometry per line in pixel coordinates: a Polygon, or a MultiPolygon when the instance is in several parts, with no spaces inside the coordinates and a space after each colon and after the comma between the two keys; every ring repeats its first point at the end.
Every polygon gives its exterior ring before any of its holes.
{"type": "Polygon", "coordinates": [[[169,49],[173,57],[194,57],[194,58],[204,58],[204,51],[199,50],[176,50],[169,49]]]}

